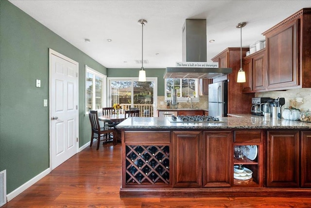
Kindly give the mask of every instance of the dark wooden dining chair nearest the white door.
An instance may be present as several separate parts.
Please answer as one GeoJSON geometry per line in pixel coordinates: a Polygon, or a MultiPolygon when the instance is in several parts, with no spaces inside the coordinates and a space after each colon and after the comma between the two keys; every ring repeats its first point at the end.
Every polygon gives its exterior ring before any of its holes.
{"type": "Polygon", "coordinates": [[[97,139],[96,150],[99,149],[99,143],[101,141],[103,141],[103,144],[104,144],[104,142],[108,142],[110,139],[113,139],[113,145],[117,144],[117,138],[116,137],[109,138],[109,136],[107,135],[109,133],[115,132],[115,128],[109,127],[109,126],[101,127],[99,124],[98,114],[97,114],[96,110],[90,110],[88,113],[88,117],[89,117],[89,121],[91,122],[91,127],[92,127],[91,143],[89,145],[90,147],[93,144],[93,139],[97,139]],[[101,140],[101,137],[103,138],[102,140],[101,140]]]}

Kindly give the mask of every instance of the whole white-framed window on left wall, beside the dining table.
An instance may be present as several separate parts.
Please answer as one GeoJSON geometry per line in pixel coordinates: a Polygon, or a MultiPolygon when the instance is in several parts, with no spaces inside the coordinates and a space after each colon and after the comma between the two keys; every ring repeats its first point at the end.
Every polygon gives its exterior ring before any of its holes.
{"type": "Polygon", "coordinates": [[[86,66],[86,114],[104,107],[105,86],[106,75],[86,66]]]}

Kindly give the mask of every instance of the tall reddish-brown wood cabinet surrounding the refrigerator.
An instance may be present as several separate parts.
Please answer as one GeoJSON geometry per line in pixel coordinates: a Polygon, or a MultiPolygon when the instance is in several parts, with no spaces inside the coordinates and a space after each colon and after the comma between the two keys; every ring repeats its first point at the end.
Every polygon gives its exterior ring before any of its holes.
{"type": "MultiPolygon", "coordinates": [[[[255,93],[243,93],[243,83],[237,83],[238,71],[240,69],[240,48],[227,48],[217,56],[212,58],[213,62],[218,62],[219,67],[232,68],[232,73],[213,80],[213,83],[228,80],[228,113],[249,113],[250,109],[241,107],[252,105],[252,98],[255,93]]],[[[249,48],[242,48],[242,57],[245,56],[249,48]]]]}

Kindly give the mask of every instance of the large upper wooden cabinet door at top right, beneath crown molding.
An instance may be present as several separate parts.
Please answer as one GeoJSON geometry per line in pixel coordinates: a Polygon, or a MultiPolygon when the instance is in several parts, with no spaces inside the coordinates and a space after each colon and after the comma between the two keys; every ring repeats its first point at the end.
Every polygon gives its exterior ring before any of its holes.
{"type": "Polygon", "coordinates": [[[295,19],[266,36],[268,89],[284,89],[299,85],[298,27],[299,19],[295,19]]]}

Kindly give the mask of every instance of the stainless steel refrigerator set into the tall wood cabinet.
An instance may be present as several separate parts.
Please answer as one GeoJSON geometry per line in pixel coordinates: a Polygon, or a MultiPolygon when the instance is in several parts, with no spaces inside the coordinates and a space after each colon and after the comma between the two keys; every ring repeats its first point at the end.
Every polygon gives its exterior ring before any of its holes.
{"type": "Polygon", "coordinates": [[[226,117],[228,112],[228,82],[208,85],[208,116],[226,117]]]}

